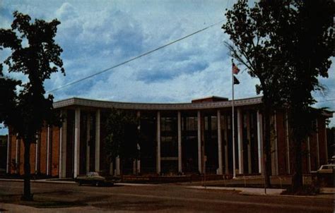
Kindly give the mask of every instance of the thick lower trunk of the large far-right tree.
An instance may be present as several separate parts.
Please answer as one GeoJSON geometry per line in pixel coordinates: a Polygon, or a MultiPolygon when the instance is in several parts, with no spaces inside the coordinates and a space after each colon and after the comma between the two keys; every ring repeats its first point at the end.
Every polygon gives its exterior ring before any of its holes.
{"type": "Polygon", "coordinates": [[[294,142],[294,173],[292,177],[292,191],[298,192],[302,190],[302,154],[301,154],[301,140],[294,142]]]}

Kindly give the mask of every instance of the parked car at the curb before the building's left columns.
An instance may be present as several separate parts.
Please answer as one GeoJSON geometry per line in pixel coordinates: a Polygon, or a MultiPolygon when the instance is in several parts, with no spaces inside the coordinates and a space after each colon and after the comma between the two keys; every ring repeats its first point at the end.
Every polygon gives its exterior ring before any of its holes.
{"type": "Polygon", "coordinates": [[[101,176],[96,171],[90,171],[86,176],[78,176],[75,181],[79,185],[91,184],[95,186],[100,185],[114,185],[115,181],[118,181],[117,178],[113,176],[101,176]]]}

